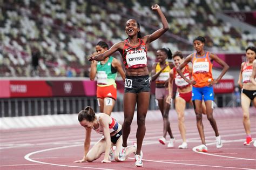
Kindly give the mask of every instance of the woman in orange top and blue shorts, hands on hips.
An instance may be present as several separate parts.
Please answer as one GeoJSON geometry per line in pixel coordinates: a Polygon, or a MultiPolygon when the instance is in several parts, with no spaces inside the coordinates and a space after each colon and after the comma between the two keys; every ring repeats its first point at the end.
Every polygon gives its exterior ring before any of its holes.
{"type": "Polygon", "coordinates": [[[229,66],[221,60],[217,55],[210,53],[204,50],[205,38],[197,37],[193,40],[194,49],[196,52],[189,55],[183,63],[177,67],[178,74],[184,78],[187,83],[193,85],[192,87],[192,101],[194,105],[194,111],[196,112],[197,117],[197,128],[201,138],[202,145],[199,145],[196,150],[200,152],[207,152],[205,135],[204,135],[204,126],[202,122],[202,100],[204,98],[206,104],[206,115],[207,119],[210,121],[210,124],[215,132],[216,136],[216,147],[221,148],[223,146],[221,138],[219,135],[218,127],[215,119],[213,118],[213,105],[214,105],[214,93],[213,85],[217,84],[218,81],[224,76],[227,72],[229,66]],[[219,77],[217,79],[212,78],[212,61],[217,62],[223,66],[219,77]],[[189,63],[192,62],[192,77],[193,79],[186,78],[182,69],[189,63]]]}

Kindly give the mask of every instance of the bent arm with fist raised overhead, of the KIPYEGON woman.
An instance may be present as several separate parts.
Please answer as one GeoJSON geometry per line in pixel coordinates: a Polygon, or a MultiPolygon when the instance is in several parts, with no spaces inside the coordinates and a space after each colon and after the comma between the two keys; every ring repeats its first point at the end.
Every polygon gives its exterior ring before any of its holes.
{"type": "Polygon", "coordinates": [[[161,11],[160,6],[158,4],[152,5],[151,9],[153,11],[158,12],[158,15],[160,16],[163,27],[158,29],[157,31],[154,31],[151,35],[147,35],[143,37],[143,40],[145,40],[146,44],[153,42],[154,40],[159,38],[161,35],[163,35],[167,30],[169,30],[167,19],[165,18],[164,13],[161,11]]]}

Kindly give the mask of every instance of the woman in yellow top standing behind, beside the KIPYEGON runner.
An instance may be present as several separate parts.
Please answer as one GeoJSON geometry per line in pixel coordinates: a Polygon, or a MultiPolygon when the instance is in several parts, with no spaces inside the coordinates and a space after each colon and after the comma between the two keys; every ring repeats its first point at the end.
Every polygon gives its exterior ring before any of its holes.
{"type": "Polygon", "coordinates": [[[165,145],[166,134],[168,132],[171,139],[167,147],[173,147],[174,137],[172,135],[169,121],[170,104],[166,103],[165,100],[169,94],[169,72],[174,65],[169,66],[169,62],[166,61],[167,58],[172,59],[172,52],[169,48],[167,49],[164,47],[157,50],[158,63],[154,63],[151,74],[152,81],[156,80],[156,99],[164,120],[164,134],[163,137],[159,138],[159,142],[165,145]]]}

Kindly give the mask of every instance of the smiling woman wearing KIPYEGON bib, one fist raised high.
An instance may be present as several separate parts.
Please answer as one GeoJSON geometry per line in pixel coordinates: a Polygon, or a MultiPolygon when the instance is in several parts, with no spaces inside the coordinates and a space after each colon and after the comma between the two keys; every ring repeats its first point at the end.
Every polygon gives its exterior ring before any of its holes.
{"type": "Polygon", "coordinates": [[[89,60],[104,60],[107,56],[112,55],[113,52],[119,51],[123,56],[123,62],[126,69],[125,78],[125,94],[124,94],[124,123],[123,123],[123,148],[119,153],[119,160],[124,160],[127,138],[131,131],[131,123],[134,115],[135,106],[137,103],[137,151],[136,151],[136,167],[142,167],[142,142],[146,132],[145,118],[147,108],[149,108],[150,101],[150,77],[147,69],[147,46],[153,41],[163,35],[168,29],[169,25],[161,11],[159,5],[152,5],[151,9],[157,11],[161,18],[163,28],[158,29],[151,35],[140,37],[139,24],[134,19],[129,19],[126,22],[125,32],[128,38],[122,42],[114,44],[109,50],[102,54],[95,53],[90,56],[89,60]]]}

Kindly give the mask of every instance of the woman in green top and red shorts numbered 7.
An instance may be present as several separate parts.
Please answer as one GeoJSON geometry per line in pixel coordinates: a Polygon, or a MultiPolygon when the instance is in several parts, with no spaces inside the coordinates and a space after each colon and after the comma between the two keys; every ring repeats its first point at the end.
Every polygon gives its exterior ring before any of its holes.
{"type": "MultiPolygon", "coordinates": [[[[101,54],[109,49],[109,46],[100,41],[96,45],[97,54],[101,54]]],[[[125,79],[125,73],[122,69],[121,63],[114,57],[106,57],[101,62],[92,60],[90,79],[93,81],[97,75],[97,98],[99,111],[111,114],[114,103],[117,99],[117,84],[116,77],[117,71],[120,73],[121,77],[125,79]]]]}

